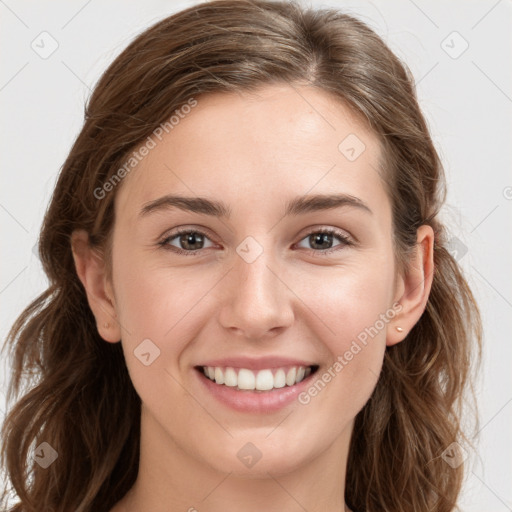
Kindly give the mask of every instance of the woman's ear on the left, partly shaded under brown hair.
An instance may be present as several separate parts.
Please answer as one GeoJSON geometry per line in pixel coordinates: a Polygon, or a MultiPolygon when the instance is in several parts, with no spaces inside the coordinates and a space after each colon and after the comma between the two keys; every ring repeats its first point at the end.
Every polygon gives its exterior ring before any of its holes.
{"type": "Polygon", "coordinates": [[[100,253],[90,246],[89,235],[82,229],[71,234],[71,250],[76,272],[84,285],[89,306],[96,318],[98,333],[105,341],[116,343],[121,339],[121,330],[117,322],[112,285],[107,279],[105,261],[100,253]]]}

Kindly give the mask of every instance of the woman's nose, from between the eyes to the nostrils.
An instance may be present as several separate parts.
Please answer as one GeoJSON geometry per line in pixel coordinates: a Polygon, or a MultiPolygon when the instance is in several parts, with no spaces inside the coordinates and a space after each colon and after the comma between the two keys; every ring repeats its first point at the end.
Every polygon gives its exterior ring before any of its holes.
{"type": "Polygon", "coordinates": [[[293,322],[293,292],[267,254],[263,251],[252,262],[237,255],[225,277],[220,323],[231,334],[260,340],[278,335],[293,322]]]}

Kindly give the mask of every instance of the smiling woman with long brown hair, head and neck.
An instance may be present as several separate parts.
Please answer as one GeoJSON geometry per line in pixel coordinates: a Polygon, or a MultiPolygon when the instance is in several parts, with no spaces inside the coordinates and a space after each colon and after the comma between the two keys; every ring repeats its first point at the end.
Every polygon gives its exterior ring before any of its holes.
{"type": "Polygon", "coordinates": [[[455,510],[481,326],[443,179],[406,67],[350,16],[219,0],[141,34],[8,338],[13,393],[38,378],[3,428],[9,510],[455,510]]]}

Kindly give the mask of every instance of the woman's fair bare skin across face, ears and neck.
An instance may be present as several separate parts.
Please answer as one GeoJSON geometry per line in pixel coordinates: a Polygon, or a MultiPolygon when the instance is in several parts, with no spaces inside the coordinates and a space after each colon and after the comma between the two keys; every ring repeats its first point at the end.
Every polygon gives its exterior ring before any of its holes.
{"type": "MultiPolygon", "coordinates": [[[[115,191],[111,281],[87,234],[73,233],[98,331],[122,343],[142,400],[138,479],[114,512],[344,510],[354,418],[386,346],[403,342],[432,283],[429,226],[418,230],[410,268],[397,271],[380,156],[375,134],[317,89],[201,96],[115,191]],[[355,161],[338,150],[349,134],[366,146],[355,161]],[[373,213],[344,207],[283,217],[292,198],[333,192],[373,213]],[[138,218],[144,204],[170,193],[222,200],[231,218],[179,209],[138,218]],[[158,245],[178,226],[206,230],[196,256],[158,245]],[[333,236],[336,250],[322,256],[329,242],[315,248],[313,227],[339,228],[357,242],[333,236]],[[236,252],[247,236],[263,248],[252,263],[236,252]],[[278,354],[315,361],[322,375],[395,302],[400,312],[307,405],[236,412],[204,391],[193,369],[216,357],[278,354]],[[161,351],[149,366],[134,356],[147,338],[161,351]],[[247,442],[262,454],[251,468],[237,457],[247,442]]],[[[169,243],[187,250],[179,237],[169,243]]]]}

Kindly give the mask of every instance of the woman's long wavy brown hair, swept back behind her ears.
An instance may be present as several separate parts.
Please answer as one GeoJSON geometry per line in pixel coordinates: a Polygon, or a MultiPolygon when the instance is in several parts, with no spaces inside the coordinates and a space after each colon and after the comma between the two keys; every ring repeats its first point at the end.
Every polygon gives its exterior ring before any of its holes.
{"type": "MultiPolygon", "coordinates": [[[[6,340],[12,358],[2,463],[19,502],[10,512],[108,511],[138,471],[140,398],[120,343],[106,343],[75,270],[70,235],[90,234],[110,263],[116,190],[98,199],[127,155],[190,98],[307,84],[348,104],[379,137],[398,262],[422,224],[435,233],[427,307],[388,347],[375,391],[356,417],[347,503],[366,512],[454,510],[464,464],[442,454],[468,441],[461,428],[481,320],[438,213],[441,163],[407,67],[364,23],[335,9],[217,0],[174,14],[138,36],[109,66],[85,109],[46,212],[39,254],[48,289],[6,340]],[[20,391],[23,391],[20,394],[20,391]],[[30,450],[58,454],[42,468],[30,450]],[[44,445],[46,446],[46,445],[44,445]]],[[[4,492],[4,499],[7,489],[4,492]]]]}

